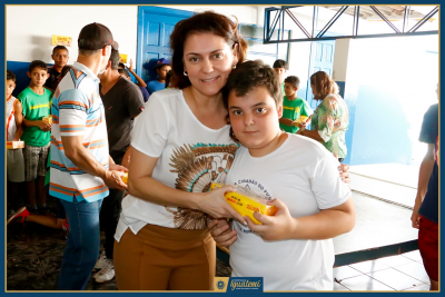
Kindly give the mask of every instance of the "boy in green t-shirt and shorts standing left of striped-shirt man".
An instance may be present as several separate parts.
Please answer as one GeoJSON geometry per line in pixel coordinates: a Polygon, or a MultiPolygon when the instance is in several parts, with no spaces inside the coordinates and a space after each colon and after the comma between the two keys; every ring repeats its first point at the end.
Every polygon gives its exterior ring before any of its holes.
{"type": "Polygon", "coordinates": [[[44,176],[47,175],[47,159],[50,148],[51,123],[43,120],[50,115],[52,92],[43,88],[49,73],[43,61],[34,60],[29,66],[29,87],[19,93],[18,98],[23,107],[24,131],[24,181],[30,202],[30,211],[37,212],[39,207],[46,211],[44,176]],[[36,195],[37,192],[37,195],[36,195]]]}

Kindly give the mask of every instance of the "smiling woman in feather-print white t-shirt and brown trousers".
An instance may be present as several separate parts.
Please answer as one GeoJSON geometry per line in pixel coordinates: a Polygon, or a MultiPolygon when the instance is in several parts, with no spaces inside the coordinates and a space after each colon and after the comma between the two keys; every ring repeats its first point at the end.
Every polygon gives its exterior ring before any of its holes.
{"type": "Polygon", "coordinates": [[[129,192],[115,235],[121,290],[209,290],[216,247],[210,217],[243,217],[224,199],[237,145],[220,90],[247,43],[229,18],[202,12],[170,36],[171,89],[155,92],[132,132],[129,192]],[[208,214],[208,215],[206,215],[208,214]]]}

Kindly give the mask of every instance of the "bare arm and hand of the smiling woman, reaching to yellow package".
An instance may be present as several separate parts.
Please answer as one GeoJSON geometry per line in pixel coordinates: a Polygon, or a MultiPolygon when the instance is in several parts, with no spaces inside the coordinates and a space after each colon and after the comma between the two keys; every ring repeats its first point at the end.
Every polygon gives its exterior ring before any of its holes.
{"type": "Polygon", "coordinates": [[[158,205],[201,210],[212,218],[234,217],[244,221],[244,218],[224,198],[225,192],[234,190],[231,186],[208,192],[187,192],[170,188],[152,178],[158,159],[132,147],[128,175],[128,191],[132,196],[158,205]]]}

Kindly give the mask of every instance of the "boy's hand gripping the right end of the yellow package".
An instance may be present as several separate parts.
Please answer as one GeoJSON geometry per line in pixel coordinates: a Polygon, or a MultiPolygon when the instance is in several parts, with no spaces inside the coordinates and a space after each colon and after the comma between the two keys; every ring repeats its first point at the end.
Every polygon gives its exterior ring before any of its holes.
{"type": "Polygon", "coordinates": [[[260,215],[255,212],[254,217],[263,225],[256,225],[249,217],[245,217],[249,229],[258,234],[265,240],[281,240],[293,238],[296,228],[296,219],[290,216],[287,206],[279,199],[268,202],[278,208],[275,216],[260,215]]]}

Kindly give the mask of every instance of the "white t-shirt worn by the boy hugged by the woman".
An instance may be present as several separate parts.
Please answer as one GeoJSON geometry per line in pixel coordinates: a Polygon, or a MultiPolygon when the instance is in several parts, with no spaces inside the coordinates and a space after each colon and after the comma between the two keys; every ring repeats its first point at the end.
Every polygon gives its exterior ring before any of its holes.
{"type": "MultiPolygon", "coordinates": [[[[283,200],[295,218],[344,204],[350,190],[338,160],[319,142],[290,135],[274,152],[255,158],[240,147],[226,184],[283,200]]],[[[327,240],[265,241],[234,221],[230,246],[234,277],[264,277],[265,290],[333,290],[334,245],[327,240]]]]}

